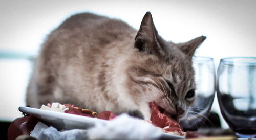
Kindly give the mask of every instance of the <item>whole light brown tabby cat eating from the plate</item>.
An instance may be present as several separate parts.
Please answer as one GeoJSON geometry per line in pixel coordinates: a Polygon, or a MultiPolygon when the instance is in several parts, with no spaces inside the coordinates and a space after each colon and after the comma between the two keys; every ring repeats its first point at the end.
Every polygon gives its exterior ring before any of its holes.
{"type": "Polygon", "coordinates": [[[139,30],[92,13],[69,17],[40,50],[26,104],[59,102],[101,112],[129,112],[150,119],[155,101],[177,119],[195,100],[192,59],[206,39],[165,41],[146,12],[139,30]]]}

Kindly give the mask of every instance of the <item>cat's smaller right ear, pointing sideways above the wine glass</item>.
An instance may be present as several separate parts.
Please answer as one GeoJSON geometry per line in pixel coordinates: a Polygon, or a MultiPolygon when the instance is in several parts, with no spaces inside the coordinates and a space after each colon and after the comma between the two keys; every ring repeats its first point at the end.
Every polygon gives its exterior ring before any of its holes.
{"type": "Polygon", "coordinates": [[[206,39],[205,36],[200,36],[190,41],[177,44],[182,52],[187,54],[190,59],[194,56],[196,49],[206,39]]]}

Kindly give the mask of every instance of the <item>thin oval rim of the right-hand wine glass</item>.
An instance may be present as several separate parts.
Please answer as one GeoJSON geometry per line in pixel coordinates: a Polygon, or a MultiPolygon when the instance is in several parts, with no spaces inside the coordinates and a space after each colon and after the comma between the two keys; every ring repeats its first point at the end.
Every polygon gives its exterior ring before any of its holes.
{"type": "Polygon", "coordinates": [[[256,65],[256,57],[226,57],[226,58],[222,58],[220,62],[224,62],[228,64],[241,63],[241,64],[256,65]]]}

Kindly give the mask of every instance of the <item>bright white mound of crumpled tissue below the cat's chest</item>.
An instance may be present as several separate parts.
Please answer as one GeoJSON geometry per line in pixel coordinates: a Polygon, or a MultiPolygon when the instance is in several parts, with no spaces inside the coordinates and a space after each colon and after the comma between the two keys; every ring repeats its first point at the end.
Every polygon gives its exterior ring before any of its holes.
{"type": "Polygon", "coordinates": [[[88,130],[89,139],[158,139],[162,131],[152,124],[121,114],[109,123],[96,123],[88,130]]]}

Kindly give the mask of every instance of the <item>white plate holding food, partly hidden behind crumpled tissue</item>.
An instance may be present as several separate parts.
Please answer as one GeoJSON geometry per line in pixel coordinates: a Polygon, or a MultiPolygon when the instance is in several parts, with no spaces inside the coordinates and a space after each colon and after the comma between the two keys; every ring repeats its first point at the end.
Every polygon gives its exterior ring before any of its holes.
{"type": "MultiPolygon", "coordinates": [[[[95,123],[108,123],[109,121],[101,120],[97,118],[91,118],[87,116],[69,114],[69,113],[61,113],[54,112],[49,110],[42,110],[30,107],[20,106],[18,108],[19,111],[27,113],[29,115],[35,116],[41,122],[49,126],[53,126],[58,130],[61,129],[87,129],[89,127],[93,127],[95,123]]],[[[162,138],[168,139],[183,139],[183,136],[172,135],[168,133],[162,133],[162,138]]]]}

